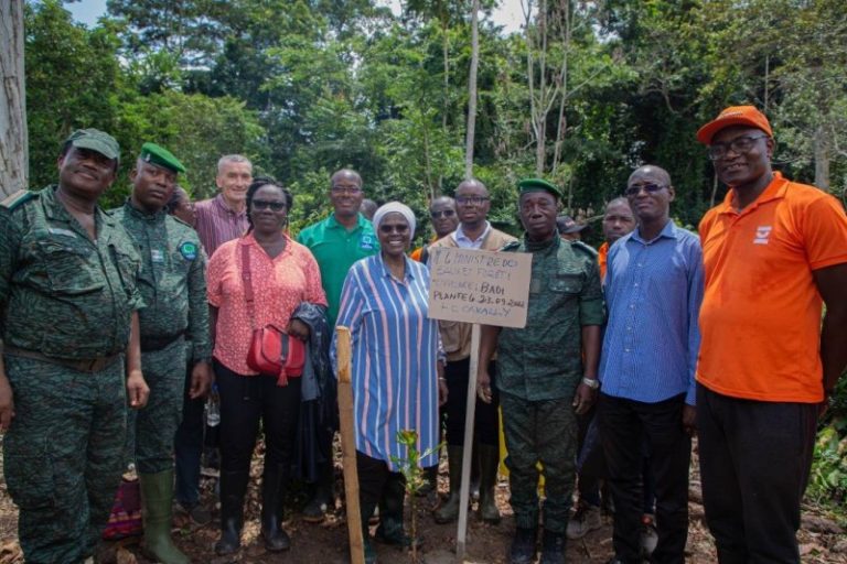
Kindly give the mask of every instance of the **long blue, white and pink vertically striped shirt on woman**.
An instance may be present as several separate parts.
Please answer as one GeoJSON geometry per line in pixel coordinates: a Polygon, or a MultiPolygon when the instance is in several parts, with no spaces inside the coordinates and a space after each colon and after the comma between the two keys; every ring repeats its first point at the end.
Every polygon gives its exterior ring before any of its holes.
{"type": "Polygon", "coordinates": [[[350,327],[356,449],[388,464],[407,458],[397,432],[418,433],[421,466],[438,464],[438,323],[427,316],[429,271],[406,259],[395,279],[377,254],[344,282],[339,324],[350,327]]]}

